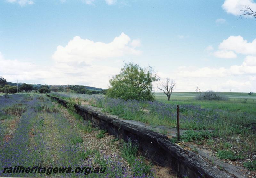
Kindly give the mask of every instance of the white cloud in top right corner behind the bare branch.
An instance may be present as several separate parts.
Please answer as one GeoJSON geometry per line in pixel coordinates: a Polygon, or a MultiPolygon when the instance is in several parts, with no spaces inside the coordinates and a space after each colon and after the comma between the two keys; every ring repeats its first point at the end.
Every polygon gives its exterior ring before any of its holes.
{"type": "Polygon", "coordinates": [[[245,5],[250,6],[252,9],[256,9],[256,3],[253,0],[225,0],[224,4],[222,5],[222,8],[227,13],[233,15],[241,15],[243,14],[241,9],[243,9],[245,5]]]}

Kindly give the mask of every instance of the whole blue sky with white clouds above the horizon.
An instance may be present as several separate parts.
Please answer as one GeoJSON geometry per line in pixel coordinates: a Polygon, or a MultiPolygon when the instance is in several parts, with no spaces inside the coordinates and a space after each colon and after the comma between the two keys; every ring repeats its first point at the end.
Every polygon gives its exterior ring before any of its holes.
{"type": "Polygon", "coordinates": [[[108,88],[133,62],[173,79],[174,92],[256,92],[245,5],[256,10],[253,0],[1,0],[0,76],[108,88]]]}

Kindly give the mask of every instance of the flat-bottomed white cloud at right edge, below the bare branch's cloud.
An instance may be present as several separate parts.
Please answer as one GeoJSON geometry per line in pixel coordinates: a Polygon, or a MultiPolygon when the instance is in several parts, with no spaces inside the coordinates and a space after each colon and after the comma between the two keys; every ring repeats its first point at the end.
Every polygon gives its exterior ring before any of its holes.
{"type": "Polygon", "coordinates": [[[232,50],[236,53],[245,55],[255,55],[256,54],[256,39],[251,43],[244,40],[242,36],[230,36],[225,39],[219,45],[220,50],[232,50]]]}

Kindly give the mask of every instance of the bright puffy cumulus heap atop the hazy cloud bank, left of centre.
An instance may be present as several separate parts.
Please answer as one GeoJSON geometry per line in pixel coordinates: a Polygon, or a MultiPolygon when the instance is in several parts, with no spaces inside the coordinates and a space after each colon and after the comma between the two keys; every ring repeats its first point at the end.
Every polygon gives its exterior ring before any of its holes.
{"type": "Polygon", "coordinates": [[[102,60],[121,57],[124,54],[140,54],[141,51],[136,50],[136,46],[134,46],[139,44],[138,41],[133,41],[133,46],[129,44],[130,41],[130,37],[124,33],[115,37],[110,43],[94,42],[75,36],[65,47],[58,46],[52,58],[57,62],[89,63],[95,59],[102,60]]]}

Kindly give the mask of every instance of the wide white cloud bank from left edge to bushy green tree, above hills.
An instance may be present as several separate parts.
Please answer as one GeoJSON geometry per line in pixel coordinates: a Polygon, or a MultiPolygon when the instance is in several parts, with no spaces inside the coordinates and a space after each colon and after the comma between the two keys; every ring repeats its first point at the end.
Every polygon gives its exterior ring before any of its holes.
{"type": "Polygon", "coordinates": [[[45,62],[48,66],[4,59],[0,53],[0,76],[8,81],[107,88],[109,78],[120,71],[119,59],[140,54],[135,49],[139,45],[140,40],[131,41],[124,33],[110,43],[76,36],[65,47],[57,47],[52,61],[45,62]]]}

